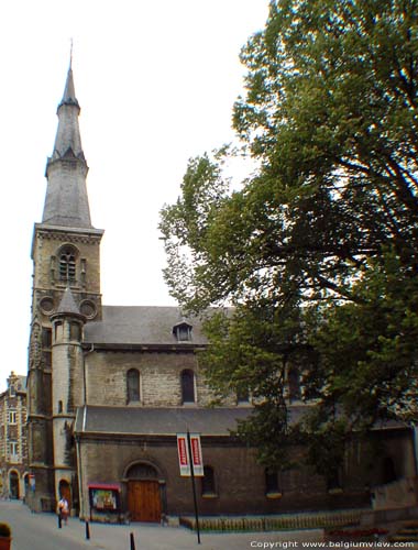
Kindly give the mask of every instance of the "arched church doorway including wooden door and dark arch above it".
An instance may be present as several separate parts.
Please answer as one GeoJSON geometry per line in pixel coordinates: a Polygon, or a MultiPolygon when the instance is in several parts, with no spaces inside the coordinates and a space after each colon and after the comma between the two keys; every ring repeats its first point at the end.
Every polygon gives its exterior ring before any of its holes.
{"type": "Polygon", "coordinates": [[[158,472],[150,463],[139,462],[127,472],[128,509],[131,521],[161,521],[162,504],[158,472]]]}

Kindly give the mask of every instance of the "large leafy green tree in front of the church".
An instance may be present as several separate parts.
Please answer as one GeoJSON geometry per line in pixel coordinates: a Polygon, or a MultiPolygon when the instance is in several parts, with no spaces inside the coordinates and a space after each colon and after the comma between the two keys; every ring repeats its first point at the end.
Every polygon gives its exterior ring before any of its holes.
{"type": "Polygon", "coordinates": [[[239,431],[265,464],[309,436],[326,471],[324,430],[342,449],[353,430],[417,419],[417,15],[415,0],[271,1],[233,110],[258,168],[230,191],[226,148],[195,158],[162,212],[173,296],[234,307],[207,322],[204,363],[220,396],[256,397],[239,431]],[[298,422],[289,364],[317,403],[298,422]]]}

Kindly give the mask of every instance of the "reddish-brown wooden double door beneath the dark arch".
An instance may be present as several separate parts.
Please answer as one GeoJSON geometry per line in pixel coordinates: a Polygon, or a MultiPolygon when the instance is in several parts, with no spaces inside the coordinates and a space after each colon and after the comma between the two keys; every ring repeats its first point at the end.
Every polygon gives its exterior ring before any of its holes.
{"type": "Polygon", "coordinates": [[[154,480],[128,482],[131,521],[161,521],[160,484],[154,480]]]}

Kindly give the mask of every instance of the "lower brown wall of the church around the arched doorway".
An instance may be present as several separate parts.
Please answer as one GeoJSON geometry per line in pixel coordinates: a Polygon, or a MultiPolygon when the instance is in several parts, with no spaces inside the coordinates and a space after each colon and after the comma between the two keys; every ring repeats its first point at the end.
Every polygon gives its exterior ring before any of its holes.
{"type": "MultiPolygon", "coordinates": [[[[82,486],[85,514],[88,515],[88,484],[94,482],[120,483],[122,509],[128,510],[127,472],[130,465],[144,461],[158,474],[163,496],[163,513],[193,515],[193,492],[189,477],[180,477],[175,438],[81,440],[82,486]],[[106,457],[106,460],[103,460],[106,457]]],[[[198,508],[201,515],[217,514],[274,514],[300,509],[334,509],[350,505],[367,505],[363,491],[346,490],[343,495],[330,495],[324,481],[311,469],[289,472],[286,492],[279,498],[265,493],[264,469],[254,460],[254,452],[230,438],[202,438],[206,465],[215,472],[216,494],[205,497],[201,481],[196,480],[198,508]]]]}

